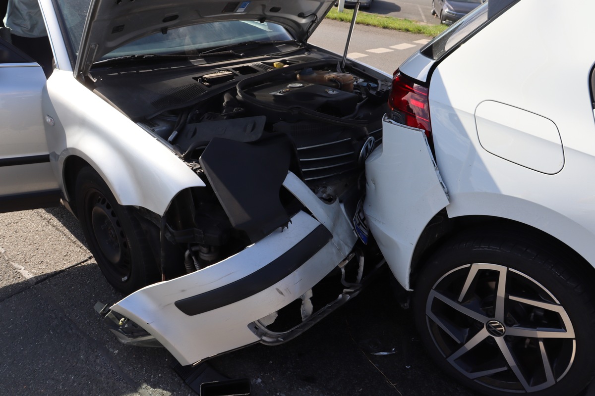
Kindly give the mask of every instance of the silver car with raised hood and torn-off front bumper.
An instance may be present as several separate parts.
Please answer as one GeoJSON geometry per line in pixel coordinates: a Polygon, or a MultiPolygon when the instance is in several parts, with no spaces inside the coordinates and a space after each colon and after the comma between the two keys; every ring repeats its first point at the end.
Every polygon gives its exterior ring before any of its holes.
{"type": "Polygon", "coordinates": [[[0,210],[76,214],[131,293],[101,309],[121,341],[190,365],[359,292],[381,264],[353,218],[390,75],[308,44],[334,0],[39,4],[47,80],[0,39],[0,210]]]}

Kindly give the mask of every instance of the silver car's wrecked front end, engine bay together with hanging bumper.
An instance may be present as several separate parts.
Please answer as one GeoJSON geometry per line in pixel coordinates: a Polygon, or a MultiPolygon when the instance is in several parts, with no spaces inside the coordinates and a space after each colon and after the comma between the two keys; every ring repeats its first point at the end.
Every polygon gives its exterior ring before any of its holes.
{"type": "Polygon", "coordinates": [[[162,216],[139,213],[163,281],[99,307],[120,341],[164,346],[181,365],[296,337],[382,263],[358,204],[390,78],[303,43],[246,52],[90,70],[93,91],[205,185],[162,216]]]}

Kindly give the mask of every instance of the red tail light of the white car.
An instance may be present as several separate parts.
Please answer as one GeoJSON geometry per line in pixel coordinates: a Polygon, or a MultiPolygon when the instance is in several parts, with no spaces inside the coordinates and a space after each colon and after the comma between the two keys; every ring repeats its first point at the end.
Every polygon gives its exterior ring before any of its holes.
{"type": "Polygon", "coordinates": [[[389,107],[393,121],[424,129],[428,138],[431,137],[428,88],[415,84],[411,78],[400,74],[398,69],[393,75],[389,107]]]}

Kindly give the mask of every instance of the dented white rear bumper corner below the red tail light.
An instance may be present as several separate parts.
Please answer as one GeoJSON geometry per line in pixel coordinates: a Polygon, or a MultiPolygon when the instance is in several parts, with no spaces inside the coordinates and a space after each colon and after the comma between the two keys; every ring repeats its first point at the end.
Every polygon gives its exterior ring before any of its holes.
{"type": "Polygon", "coordinates": [[[364,211],[370,232],[405,289],[419,236],[448,203],[424,131],[384,116],[383,144],[366,161],[364,211]]]}

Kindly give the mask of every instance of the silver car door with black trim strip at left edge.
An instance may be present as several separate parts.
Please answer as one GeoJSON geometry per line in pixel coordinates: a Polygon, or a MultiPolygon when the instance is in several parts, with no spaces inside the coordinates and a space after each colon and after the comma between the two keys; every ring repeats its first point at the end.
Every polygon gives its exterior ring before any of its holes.
{"type": "Polygon", "coordinates": [[[39,64],[0,39],[0,213],[60,202],[43,127],[45,83],[39,64]]]}

